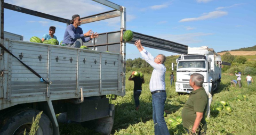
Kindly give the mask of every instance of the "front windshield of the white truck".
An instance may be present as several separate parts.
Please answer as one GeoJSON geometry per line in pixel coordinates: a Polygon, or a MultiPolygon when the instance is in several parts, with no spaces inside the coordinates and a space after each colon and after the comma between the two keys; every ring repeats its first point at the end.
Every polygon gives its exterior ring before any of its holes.
{"type": "Polygon", "coordinates": [[[205,69],[205,61],[179,62],[178,69],[182,69],[182,68],[203,68],[203,69],[205,69]]]}

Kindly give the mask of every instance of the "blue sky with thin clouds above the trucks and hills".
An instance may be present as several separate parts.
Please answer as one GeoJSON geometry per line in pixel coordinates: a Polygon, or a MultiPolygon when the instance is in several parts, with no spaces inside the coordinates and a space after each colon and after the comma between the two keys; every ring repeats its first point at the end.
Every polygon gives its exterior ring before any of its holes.
{"type": "MultiPolygon", "coordinates": [[[[81,17],[110,11],[90,0],[5,0],[4,2],[27,9],[71,19],[73,14],[81,17]],[[70,6],[70,7],[68,7],[70,6]]],[[[216,52],[256,45],[256,1],[255,0],[113,0],[126,7],[126,29],[166,40],[175,41],[189,47],[209,46],[216,52]]],[[[57,27],[55,36],[63,39],[65,23],[38,18],[36,16],[4,10],[4,30],[24,36],[42,38],[49,27],[57,27]]],[[[110,32],[120,29],[119,18],[82,24],[84,32],[110,32]]],[[[154,56],[178,55],[147,48],[154,56]]],[[[141,57],[137,48],[126,44],[126,58],[141,57]]]]}

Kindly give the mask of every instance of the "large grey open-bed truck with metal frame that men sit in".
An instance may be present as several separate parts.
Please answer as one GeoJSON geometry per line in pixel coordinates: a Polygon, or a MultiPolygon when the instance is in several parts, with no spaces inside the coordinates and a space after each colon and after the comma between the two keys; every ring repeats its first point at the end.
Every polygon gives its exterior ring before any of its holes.
{"type": "MultiPolygon", "coordinates": [[[[36,134],[60,134],[56,114],[110,134],[115,106],[107,95],[125,96],[126,8],[106,0],[94,2],[114,10],[85,16],[82,23],[120,18],[117,31],[100,33],[90,49],[32,43],[4,31],[4,9],[70,24],[69,19],[0,2],[0,134],[30,132],[33,117],[43,111],[36,134]]],[[[41,5],[43,6],[43,5],[41,5]]],[[[45,5],[47,6],[47,5],[45,5]]],[[[74,13],[75,14],[75,13],[74,13]]],[[[16,20],[19,21],[19,20],[16,20]]],[[[20,26],[22,27],[22,26],[20,26]]],[[[188,46],[133,32],[145,47],[187,54],[188,46]]]]}

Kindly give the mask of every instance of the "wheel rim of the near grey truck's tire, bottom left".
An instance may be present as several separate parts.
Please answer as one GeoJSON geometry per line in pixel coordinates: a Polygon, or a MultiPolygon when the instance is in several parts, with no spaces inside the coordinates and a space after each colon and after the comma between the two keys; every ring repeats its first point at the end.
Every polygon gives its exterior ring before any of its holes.
{"type": "MultiPolygon", "coordinates": [[[[23,135],[26,129],[26,134],[29,134],[31,130],[32,123],[24,123],[20,125],[14,132],[13,135],[23,135]]],[[[41,126],[38,127],[35,135],[43,135],[43,130],[41,126]]]]}

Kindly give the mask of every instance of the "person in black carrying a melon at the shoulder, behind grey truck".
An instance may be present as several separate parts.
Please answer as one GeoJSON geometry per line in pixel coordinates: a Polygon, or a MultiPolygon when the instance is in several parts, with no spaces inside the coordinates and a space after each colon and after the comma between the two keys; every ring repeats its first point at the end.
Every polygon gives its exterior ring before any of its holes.
{"type": "Polygon", "coordinates": [[[140,100],[139,100],[139,97],[140,97],[140,94],[141,94],[141,91],[142,91],[142,83],[145,83],[145,80],[144,78],[140,78],[140,77],[137,77],[134,75],[134,72],[132,72],[132,74],[130,75],[129,77],[129,81],[133,81],[134,82],[134,87],[133,87],[133,97],[134,97],[134,101],[135,101],[135,107],[136,107],[136,111],[139,110],[139,107],[140,107],[140,100]],[[133,78],[132,78],[132,75],[133,75],[133,78]]]}

